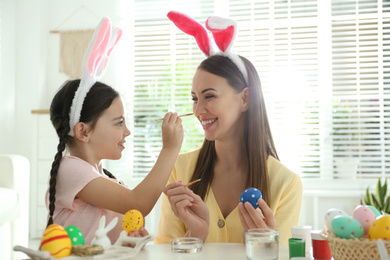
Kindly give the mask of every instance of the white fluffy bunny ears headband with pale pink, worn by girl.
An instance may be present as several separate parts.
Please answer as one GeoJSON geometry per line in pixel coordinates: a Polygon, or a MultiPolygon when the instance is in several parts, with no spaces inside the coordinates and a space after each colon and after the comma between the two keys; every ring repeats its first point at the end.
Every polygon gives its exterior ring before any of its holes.
{"type": "Polygon", "coordinates": [[[122,30],[112,30],[111,21],[104,17],[96,27],[82,61],[80,85],[73,97],[69,112],[70,136],[74,136],[74,126],[80,121],[84,99],[91,87],[104,75],[108,58],[122,36],[122,30]]]}

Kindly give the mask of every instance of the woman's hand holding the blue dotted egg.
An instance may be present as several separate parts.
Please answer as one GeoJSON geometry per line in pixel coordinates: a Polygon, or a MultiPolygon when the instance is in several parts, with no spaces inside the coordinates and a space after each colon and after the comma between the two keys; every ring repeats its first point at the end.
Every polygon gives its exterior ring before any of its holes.
{"type": "Polygon", "coordinates": [[[272,210],[263,199],[259,199],[257,202],[259,203],[259,208],[256,209],[254,209],[249,202],[245,202],[245,204],[240,202],[238,204],[238,214],[243,230],[245,231],[252,228],[275,229],[276,220],[272,210]]]}

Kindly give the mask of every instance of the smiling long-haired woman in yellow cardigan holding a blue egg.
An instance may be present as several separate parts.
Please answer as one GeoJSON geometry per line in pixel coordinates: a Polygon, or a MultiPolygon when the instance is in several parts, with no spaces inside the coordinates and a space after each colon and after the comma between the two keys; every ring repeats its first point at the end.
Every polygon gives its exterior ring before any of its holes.
{"type": "Polygon", "coordinates": [[[302,202],[299,176],[282,165],[268,123],[260,79],[239,57],[247,80],[229,57],[212,55],[198,67],[191,90],[193,112],[205,131],[200,150],[179,156],[164,189],[155,243],[174,237],[243,242],[244,230],[273,228],[287,244],[302,202]],[[189,188],[184,184],[201,179],[189,188]],[[258,188],[259,208],[239,203],[258,188]]]}

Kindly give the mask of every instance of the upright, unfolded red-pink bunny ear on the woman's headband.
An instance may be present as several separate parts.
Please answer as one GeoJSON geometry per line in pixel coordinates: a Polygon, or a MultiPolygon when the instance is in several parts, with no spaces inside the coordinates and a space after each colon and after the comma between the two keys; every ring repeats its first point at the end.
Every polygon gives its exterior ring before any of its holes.
{"type": "Polygon", "coordinates": [[[210,37],[206,29],[199,22],[176,11],[170,11],[167,16],[177,28],[195,38],[198,47],[206,56],[211,55],[210,37]]]}

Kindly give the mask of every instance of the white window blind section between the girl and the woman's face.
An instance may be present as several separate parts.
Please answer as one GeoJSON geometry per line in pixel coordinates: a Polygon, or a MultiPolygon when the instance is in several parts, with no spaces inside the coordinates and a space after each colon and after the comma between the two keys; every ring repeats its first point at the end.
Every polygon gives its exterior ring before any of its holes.
{"type": "MultiPolygon", "coordinates": [[[[162,148],[161,118],[168,111],[192,112],[192,76],[204,56],[192,37],[183,34],[166,17],[168,11],[191,10],[204,21],[214,12],[210,1],[135,1],[134,89],[128,100],[133,122],[133,176],[143,177],[162,148]]],[[[183,11],[184,12],[184,11],[183,11]]],[[[195,117],[182,118],[185,138],[181,153],[195,150],[203,130],[195,117]]]]}

